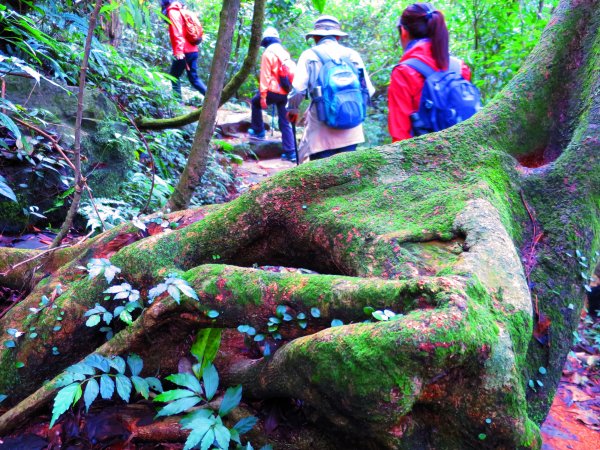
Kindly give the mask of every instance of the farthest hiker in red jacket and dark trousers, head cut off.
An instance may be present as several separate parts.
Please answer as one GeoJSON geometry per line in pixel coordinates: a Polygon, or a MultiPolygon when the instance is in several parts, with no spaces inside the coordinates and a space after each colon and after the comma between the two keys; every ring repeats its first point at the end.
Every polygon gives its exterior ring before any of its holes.
{"type": "MultiPolygon", "coordinates": [[[[181,100],[181,81],[179,77],[187,72],[188,80],[194,89],[202,95],[206,94],[206,85],[198,76],[198,45],[188,42],[185,33],[185,21],[181,2],[174,0],[161,0],[162,13],[169,18],[169,37],[173,47],[173,63],[169,75],[175,78],[172,81],[173,92],[181,100]]],[[[200,41],[201,41],[200,37],[200,41]]]]}

